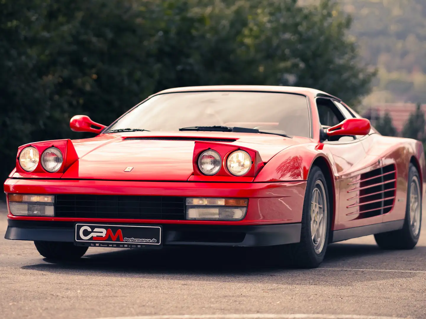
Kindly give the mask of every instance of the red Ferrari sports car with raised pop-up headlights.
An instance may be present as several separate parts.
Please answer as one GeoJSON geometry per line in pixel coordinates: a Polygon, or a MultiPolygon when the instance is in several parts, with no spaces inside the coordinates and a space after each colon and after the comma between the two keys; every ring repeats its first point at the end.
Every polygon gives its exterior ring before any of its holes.
{"type": "Polygon", "coordinates": [[[153,94],[82,140],[29,143],[4,183],[6,239],[50,259],[88,247],[274,246],[301,268],[328,243],[420,235],[423,145],[385,137],[311,88],[204,86],[153,94]],[[285,249],[284,249],[285,248],[285,249]]]}

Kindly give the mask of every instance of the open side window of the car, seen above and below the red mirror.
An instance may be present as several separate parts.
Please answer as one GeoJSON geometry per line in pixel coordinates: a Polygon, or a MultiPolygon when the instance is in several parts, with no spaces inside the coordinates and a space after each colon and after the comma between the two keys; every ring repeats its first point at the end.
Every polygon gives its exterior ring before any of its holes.
{"type": "MultiPolygon", "coordinates": [[[[316,99],[316,103],[322,128],[328,128],[330,126],[337,125],[345,120],[346,117],[342,114],[342,112],[332,100],[319,97],[316,99]]],[[[334,136],[328,137],[327,140],[330,142],[348,142],[354,139],[355,137],[352,136],[334,136]]]]}

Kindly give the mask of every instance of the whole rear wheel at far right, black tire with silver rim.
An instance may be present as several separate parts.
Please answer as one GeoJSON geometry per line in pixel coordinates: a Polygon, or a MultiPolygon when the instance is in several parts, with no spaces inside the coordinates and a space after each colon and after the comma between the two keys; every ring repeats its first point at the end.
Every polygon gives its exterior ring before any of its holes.
{"type": "Polygon", "coordinates": [[[397,231],[375,234],[374,239],[382,249],[412,249],[417,245],[420,237],[421,221],[422,192],[420,177],[414,165],[410,164],[404,226],[397,231]]]}

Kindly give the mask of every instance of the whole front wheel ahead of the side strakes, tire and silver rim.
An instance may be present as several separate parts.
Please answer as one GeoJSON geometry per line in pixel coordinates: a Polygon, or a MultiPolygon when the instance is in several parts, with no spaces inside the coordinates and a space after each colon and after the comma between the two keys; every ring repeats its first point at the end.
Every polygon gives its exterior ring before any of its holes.
{"type": "Polygon", "coordinates": [[[329,207],[325,176],[319,167],[313,166],[306,184],[300,242],[289,246],[293,266],[317,268],[321,264],[330,229],[329,207]]]}

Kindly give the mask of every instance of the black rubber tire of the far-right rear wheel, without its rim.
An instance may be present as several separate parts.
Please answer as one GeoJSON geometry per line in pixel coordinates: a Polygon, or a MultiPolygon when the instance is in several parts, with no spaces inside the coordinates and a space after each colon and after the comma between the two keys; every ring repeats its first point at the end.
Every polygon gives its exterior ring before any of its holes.
{"type": "MultiPolygon", "coordinates": [[[[382,249],[413,249],[420,237],[421,221],[422,221],[422,191],[420,186],[420,176],[417,168],[410,163],[408,173],[408,185],[407,185],[407,205],[405,208],[405,219],[402,229],[397,231],[388,231],[386,233],[375,234],[374,239],[377,245],[382,249]],[[410,216],[410,197],[411,197],[411,184],[416,182],[418,187],[419,202],[418,207],[420,209],[420,219],[418,220],[419,225],[417,234],[414,234],[412,228],[412,219],[410,216]]],[[[416,227],[416,229],[417,229],[416,227]]]]}

